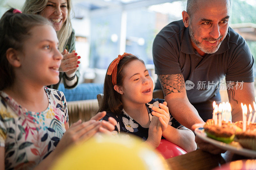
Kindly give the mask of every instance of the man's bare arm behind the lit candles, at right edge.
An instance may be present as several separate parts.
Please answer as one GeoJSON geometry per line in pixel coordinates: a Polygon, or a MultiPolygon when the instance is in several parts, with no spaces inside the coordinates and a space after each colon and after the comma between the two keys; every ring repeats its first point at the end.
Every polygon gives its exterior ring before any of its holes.
{"type": "MultiPolygon", "coordinates": [[[[255,100],[254,82],[227,82],[227,86],[228,99],[232,107],[232,122],[242,120],[241,103],[246,104],[247,108],[251,104],[253,108],[253,101],[255,100]]],[[[248,111],[248,113],[250,112],[248,111]]],[[[248,117],[249,114],[247,114],[248,117]]]]}

